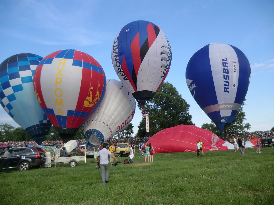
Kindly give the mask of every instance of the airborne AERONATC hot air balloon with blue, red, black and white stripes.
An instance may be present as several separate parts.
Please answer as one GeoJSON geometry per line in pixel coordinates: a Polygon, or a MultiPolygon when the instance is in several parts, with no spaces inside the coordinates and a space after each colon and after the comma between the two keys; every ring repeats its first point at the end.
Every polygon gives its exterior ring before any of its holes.
{"type": "Polygon", "coordinates": [[[137,102],[153,98],[171,65],[171,48],[164,32],[148,21],[124,26],[112,46],[116,74],[137,102]]]}

